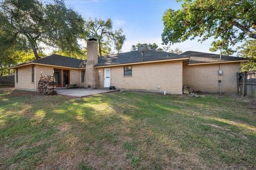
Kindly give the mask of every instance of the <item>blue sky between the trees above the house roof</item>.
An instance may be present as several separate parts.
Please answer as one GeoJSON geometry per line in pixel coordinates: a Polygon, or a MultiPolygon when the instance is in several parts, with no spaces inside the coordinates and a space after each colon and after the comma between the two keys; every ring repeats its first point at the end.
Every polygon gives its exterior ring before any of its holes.
{"type": "MultiPolygon", "coordinates": [[[[137,43],[156,43],[161,47],[161,34],[163,31],[162,16],[165,10],[172,8],[178,10],[181,3],[171,1],[100,1],[100,0],[66,0],[65,3],[79,12],[85,19],[95,17],[108,19],[114,22],[114,28],[122,28],[126,41],[122,51],[128,52],[131,46],[137,43]]],[[[187,40],[183,43],[172,45],[172,48],[210,52],[213,39],[204,43],[197,40],[187,40]]],[[[212,52],[211,52],[212,53],[212,52]]],[[[215,52],[219,53],[219,52],[215,52]]]]}

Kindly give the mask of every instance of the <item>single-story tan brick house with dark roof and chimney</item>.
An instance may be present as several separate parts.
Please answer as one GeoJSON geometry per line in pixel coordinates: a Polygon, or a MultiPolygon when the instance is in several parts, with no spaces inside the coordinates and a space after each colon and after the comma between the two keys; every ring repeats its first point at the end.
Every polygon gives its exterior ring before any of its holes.
{"type": "Polygon", "coordinates": [[[96,39],[87,42],[87,60],[50,55],[12,66],[15,88],[37,90],[41,75],[54,75],[58,87],[166,91],[182,94],[182,86],[196,91],[237,91],[236,73],[245,58],[188,51],[180,55],[148,49],[98,57],[96,39]],[[222,74],[220,75],[220,72],[222,74]]]}

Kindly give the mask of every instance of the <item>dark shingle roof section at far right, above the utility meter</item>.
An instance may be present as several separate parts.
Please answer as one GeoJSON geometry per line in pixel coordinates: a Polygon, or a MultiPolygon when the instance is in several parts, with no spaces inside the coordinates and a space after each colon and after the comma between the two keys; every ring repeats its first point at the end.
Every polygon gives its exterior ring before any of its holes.
{"type": "Polygon", "coordinates": [[[187,51],[187,52],[181,53],[180,56],[190,57],[188,64],[245,60],[245,58],[239,58],[239,57],[227,56],[227,55],[221,55],[221,60],[220,60],[219,54],[193,52],[193,51],[187,51]]]}

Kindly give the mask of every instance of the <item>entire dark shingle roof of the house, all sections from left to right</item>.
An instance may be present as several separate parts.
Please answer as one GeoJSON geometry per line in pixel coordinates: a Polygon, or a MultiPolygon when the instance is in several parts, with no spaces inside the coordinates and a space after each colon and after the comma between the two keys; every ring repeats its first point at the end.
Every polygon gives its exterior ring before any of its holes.
{"type": "MultiPolygon", "coordinates": [[[[211,53],[187,51],[178,55],[174,53],[167,53],[163,51],[148,49],[145,53],[143,53],[143,60],[141,58],[141,54],[138,51],[133,51],[133,52],[126,52],[121,54],[114,54],[114,55],[99,57],[98,64],[96,66],[129,64],[129,63],[137,63],[141,61],[146,62],[146,61],[168,60],[168,59],[186,58],[186,57],[189,57],[188,64],[246,60],[245,58],[226,56],[226,55],[222,55],[221,60],[219,60],[220,58],[219,54],[211,54],[211,53]]],[[[57,65],[57,66],[64,66],[64,67],[85,68],[86,60],[83,61],[77,58],[71,58],[71,57],[53,54],[53,55],[43,57],[27,63],[40,63],[40,64],[49,64],[49,65],[57,65]]],[[[27,63],[23,63],[23,64],[27,64],[27,63]]],[[[19,65],[23,65],[23,64],[19,64],[19,65]]],[[[19,65],[15,65],[15,67],[19,65]]]]}

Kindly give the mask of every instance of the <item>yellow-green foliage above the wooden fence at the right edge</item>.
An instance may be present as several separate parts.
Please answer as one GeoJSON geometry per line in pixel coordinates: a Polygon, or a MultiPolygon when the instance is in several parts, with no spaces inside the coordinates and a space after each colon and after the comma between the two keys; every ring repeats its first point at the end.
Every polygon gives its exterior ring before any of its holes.
{"type": "Polygon", "coordinates": [[[241,71],[254,71],[256,70],[256,40],[247,40],[245,44],[237,48],[239,57],[250,59],[249,62],[241,64],[241,71]]]}

